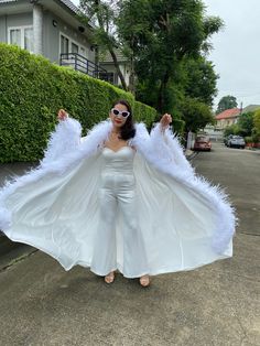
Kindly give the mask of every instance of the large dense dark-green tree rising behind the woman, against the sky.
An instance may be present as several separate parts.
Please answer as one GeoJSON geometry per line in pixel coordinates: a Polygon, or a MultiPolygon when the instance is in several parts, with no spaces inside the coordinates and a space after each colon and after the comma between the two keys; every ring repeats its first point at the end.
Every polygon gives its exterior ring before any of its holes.
{"type": "MultiPolygon", "coordinates": [[[[197,80],[201,87],[196,86],[191,97],[212,104],[217,76],[202,55],[209,48],[208,37],[221,25],[219,18],[204,17],[204,6],[199,0],[120,1],[118,33],[132,52],[138,76],[137,97],[160,112],[172,111],[170,90],[178,87],[178,93],[173,96],[175,99],[189,96],[196,84],[193,73],[196,65],[197,74],[205,78],[205,85],[208,83],[208,89],[205,93],[206,87],[203,88],[203,83],[197,80]],[[187,63],[189,58],[193,66],[187,63]],[[183,94],[181,97],[180,93],[183,94]]],[[[180,105],[173,105],[174,110],[180,105]]]]}

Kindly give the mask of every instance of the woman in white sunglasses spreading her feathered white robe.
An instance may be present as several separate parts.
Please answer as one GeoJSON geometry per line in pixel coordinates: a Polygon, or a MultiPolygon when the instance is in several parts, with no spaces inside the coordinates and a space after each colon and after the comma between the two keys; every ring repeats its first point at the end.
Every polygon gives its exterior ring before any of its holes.
{"type": "Polygon", "coordinates": [[[227,196],[195,174],[164,115],[151,134],[115,102],[109,120],[80,138],[59,110],[40,166],[2,188],[0,228],[69,270],[107,283],[191,270],[232,256],[236,217],[227,196]]]}

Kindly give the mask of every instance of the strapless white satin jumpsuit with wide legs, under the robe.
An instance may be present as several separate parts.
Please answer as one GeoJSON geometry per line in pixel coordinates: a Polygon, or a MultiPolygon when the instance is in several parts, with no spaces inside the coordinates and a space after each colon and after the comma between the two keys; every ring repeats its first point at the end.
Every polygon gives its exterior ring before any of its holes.
{"type": "Polygon", "coordinates": [[[106,275],[117,263],[116,219],[122,218],[120,229],[123,238],[122,272],[126,277],[141,277],[149,272],[144,242],[138,226],[136,179],[133,158],[136,151],[123,147],[118,151],[102,149],[104,169],[99,187],[99,227],[95,236],[91,271],[106,275]]]}

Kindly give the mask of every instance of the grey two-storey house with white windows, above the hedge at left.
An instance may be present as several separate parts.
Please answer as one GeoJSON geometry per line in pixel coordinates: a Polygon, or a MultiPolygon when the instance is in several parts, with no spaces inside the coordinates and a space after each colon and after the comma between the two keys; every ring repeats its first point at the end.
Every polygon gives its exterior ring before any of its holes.
{"type": "Polygon", "coordinates": [[[93,26],[83,24],[78,13],[69,0],[0,0],[0,42],[105,78],[106,69],[95,63],[93,26]]]}

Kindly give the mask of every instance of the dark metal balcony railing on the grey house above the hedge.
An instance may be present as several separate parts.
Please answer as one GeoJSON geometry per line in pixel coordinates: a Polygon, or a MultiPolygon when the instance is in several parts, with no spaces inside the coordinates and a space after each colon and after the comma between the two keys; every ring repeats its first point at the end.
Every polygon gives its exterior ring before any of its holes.
{"type": "Polygon", "coordinates": [[[85,73],[94,78],[108,80],[108,73],[105,68],[90,62],[85,56],[78,53],[62,53],[59,57],[61,66],[71,66],[75,71],[85,73]]]}

